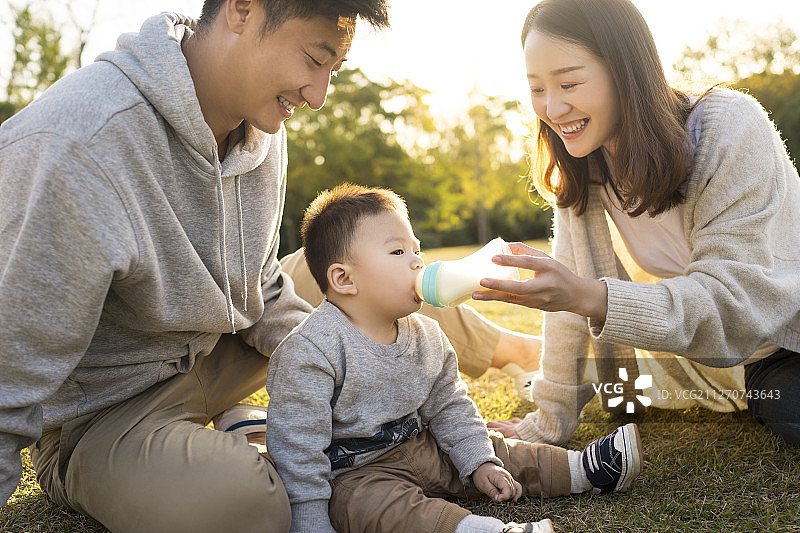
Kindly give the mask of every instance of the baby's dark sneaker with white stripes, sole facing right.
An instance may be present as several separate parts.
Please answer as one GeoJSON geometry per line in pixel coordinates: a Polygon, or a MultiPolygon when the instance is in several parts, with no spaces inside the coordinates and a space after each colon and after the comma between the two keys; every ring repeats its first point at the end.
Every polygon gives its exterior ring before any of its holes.
{"type": "Polygon", "coordinates": [[[628,490],[642,470],[642,442],[636,424],[626,424],[589,444],[581,454],[589,483],[601,493],[628,490]]]}

